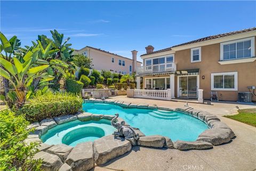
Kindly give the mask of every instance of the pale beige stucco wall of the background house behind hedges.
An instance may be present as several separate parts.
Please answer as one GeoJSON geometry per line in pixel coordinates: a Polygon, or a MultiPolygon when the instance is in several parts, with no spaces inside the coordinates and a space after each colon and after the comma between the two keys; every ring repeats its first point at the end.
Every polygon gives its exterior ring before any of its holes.
{"type": "MultiPolygon", "coordinates": [[[[114,54],[108,54],[105,52],[97,51],[92,48],[85,48],[84,50],[79,51],[79,53],[83,53],[84,51],[87,51],[87,55],[89,58],[92,59],[93,68],[97,70],[114,70],[117,73],[119,71],[125,71],[126,74],[130,73],[129,67],[132,66],[132,59],[123,58],[118,55],[114,54]],[[115,59],[115,62],[113,63],[111,58],[115,59]],[[125,66],[119,66],[118,60],[125,61],[125,66]]],[[[140,67],[141,63],[137,62],[137,67],[140,67]]]]}

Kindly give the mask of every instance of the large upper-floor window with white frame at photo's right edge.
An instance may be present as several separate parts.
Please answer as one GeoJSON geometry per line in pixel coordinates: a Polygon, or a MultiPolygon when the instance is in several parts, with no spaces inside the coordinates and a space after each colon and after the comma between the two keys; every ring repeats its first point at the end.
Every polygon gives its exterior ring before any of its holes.
{"type": "Polygon", "coordinates": [[[220,44],[220,60],[251,58],[254,56],[254,37],[220,44]]]}

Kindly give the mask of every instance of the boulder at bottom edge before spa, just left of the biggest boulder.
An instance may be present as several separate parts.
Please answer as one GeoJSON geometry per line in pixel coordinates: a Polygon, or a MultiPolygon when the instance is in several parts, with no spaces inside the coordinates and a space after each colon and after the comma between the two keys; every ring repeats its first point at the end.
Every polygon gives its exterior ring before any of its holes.
{"type": "Polygon", "coordinates": [[[66,163],[73,171],[90,170],[94,167],[92,142],[77,144],[69,153],[66,163]]]}

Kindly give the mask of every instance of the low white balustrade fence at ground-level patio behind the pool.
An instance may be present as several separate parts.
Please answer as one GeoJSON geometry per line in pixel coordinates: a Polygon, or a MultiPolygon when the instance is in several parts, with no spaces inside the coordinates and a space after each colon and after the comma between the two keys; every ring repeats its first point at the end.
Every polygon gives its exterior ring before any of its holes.
{"type": "Polygon", "coordinates": [[[134,97],[145,99],[171,100],[171,89],[134,89],[134,97]]]}

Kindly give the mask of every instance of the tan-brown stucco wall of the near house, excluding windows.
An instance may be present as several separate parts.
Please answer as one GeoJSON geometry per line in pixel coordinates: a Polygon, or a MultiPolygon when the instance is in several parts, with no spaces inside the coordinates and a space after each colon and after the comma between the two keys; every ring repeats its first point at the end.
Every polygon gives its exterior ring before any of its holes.
{"type": "MultiPolygon", "coordinates": [[[[255,46],[256,47],[256,46],[255,46]]],[[[256,51],[256,48],[255,48],[256,51]]],[[[220,43],[201,46],[201,62],[190,62],[190,48],[175,52],[177,70],[199,68],[199,88],[204,90],[204,99],[210,99],[211,73],[214,72],[238,72],[238,91],[218,91],[220,100],[237,101],[238,92],[248,92],[247,86],[256,86],[256,61],[235,64],[219,64],[220,43]],[[205,79],[202,79],[205,76],[205,79]]],[[[177,78],[175,78],[177,89],[177,78]]],[[[175,90],[177,96],[177,90],[175,90]]],[[[253,96],[256,101],[256,97],[253,96]]]]}

